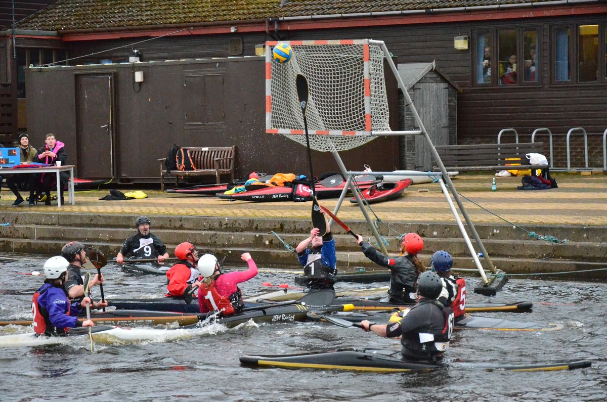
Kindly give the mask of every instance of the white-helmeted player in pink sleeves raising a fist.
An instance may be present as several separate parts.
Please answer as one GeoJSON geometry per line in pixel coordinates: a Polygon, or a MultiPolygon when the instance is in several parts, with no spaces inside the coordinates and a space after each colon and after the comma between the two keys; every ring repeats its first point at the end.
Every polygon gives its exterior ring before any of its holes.
{"type": "Polygon", "coordinates": [[[198,272],[204,279],[194,285],[198,285],[201,313],[219,312],[222,316],[228,316],[241,312],[245,307],[238,284],[253,278],[258,271],[251,254],[243,253],[240,258],[249,265],[248,270],[222,273],[219,261],[213,254],[200,257],[198,272]]]}

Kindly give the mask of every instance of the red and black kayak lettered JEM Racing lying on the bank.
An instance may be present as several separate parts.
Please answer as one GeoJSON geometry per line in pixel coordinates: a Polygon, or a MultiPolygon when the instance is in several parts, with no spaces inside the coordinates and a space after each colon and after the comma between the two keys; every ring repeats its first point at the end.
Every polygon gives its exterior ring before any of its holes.
{"type": "MultiPolygon", "coordinates": [[[[377,183],[375,176],[367,175],[356,179],[356,183],[361,189],[367,189],[377,183]]],[[[316,197],[318,199],[336,198],[339,197],[344,190],[346,182],[341,175],[332,175],[314,185],[316,189],[316,197]]],[[[298,185],[302,186],[302,185],[298,185]]],[[[307,186],[305,186],[308,188],[307,186]]],[[[277,201],[292,201],[292,187],[268,187],[263,185],[246,186],[245,192],[237,192],[234,194],[215,194],[221,199],[254,201],[254,202],[277,202],[277,201]]]]}

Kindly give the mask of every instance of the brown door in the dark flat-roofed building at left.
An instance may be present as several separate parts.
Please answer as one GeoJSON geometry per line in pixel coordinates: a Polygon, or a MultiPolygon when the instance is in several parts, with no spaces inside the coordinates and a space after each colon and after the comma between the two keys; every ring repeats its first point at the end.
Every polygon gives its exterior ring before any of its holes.
{"type": "Polygon", "coordinates": [[[112,75],[76,76],[76,150],[78,175],[114,177],[112,75]]]}

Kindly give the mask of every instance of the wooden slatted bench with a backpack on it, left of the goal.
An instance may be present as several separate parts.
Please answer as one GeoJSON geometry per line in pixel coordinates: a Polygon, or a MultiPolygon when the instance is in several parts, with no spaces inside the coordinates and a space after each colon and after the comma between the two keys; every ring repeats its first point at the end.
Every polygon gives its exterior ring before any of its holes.
{"type": "Polygon", "coordinates": [[[229,174],[230,181],[234,180],[234,157],[236,146],[184,146],[192,155],[195,170],[180,171],[166,170],[164,161],[166,158],[158,159],[160,162],[160,191],[164,191],[164,178],[175,176],[175,186],[179,186],[179,178],[192,176],[214,175],[216,183],[219,184],[219,176],[229,174]]]}

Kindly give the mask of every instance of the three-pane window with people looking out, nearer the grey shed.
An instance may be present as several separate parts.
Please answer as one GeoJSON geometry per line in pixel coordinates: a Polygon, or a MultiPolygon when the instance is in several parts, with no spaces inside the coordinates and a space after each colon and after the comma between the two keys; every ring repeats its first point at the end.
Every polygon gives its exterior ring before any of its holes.
{"type": "Polygon", "coordinates": [[[540,30],[497,29],[476,33],[476,86],[517,86],[540,82],[540,30]],[[518,63],[517,63],[518,61],[518,63]]]}

